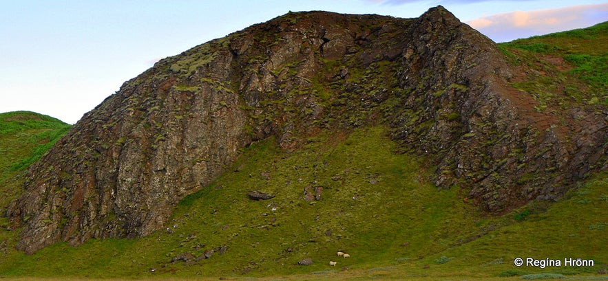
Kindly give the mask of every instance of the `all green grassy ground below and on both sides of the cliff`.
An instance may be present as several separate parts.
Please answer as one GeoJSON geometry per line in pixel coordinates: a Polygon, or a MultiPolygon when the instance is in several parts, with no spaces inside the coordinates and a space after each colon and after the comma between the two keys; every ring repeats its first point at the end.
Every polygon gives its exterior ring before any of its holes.
{"type": "MultiPolygon", "coordinates": [[[[514,65],[534,69],[512,85],[539,100],[538,111],[592,106],[605,114],[607,28],[501,44],[514,65]]],[[[0,207],[68,128],[35,113],[0,115],[0,207]]],[[[382,126],[322,131],[291,153],[266,139],[183,199],[165,229],[140,239],[59,243],[28,256],[14,250],[19,229],[0,218],[0,278],[608,280],[598,274],[608,268],[608,172],[555,203],[488,216],[466,199],[467,186],[438,190],[426,159],[394,150],[382,126]],[[322,187],[320,200],[306,201],[307,187],[322,187]],[[274,197],[249,199],[254,190],[274,197]],[[306,258],[313,264],[297,265],[306,258]],[[516,258],[561,265],[518,267],[516,258]],[[565,258],[594,265],[568,267],[565,258]]]]}

